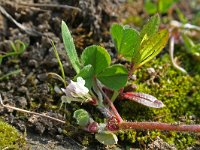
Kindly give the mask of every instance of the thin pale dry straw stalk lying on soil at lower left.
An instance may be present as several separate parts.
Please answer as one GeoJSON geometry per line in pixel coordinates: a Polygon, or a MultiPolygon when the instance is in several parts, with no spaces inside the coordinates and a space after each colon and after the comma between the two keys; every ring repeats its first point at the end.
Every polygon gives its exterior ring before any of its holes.
{"type": "Polygon", "coordinates": [[[57,122],[60,122],[60,123],[65,123],[65,121],[51,117],[51,116],[47,116],[47,115],[44,115],[44,114],[24,110],[24,109],[21,109],[21,108],[10,106],[10,105],[4,105],[2,98],[1,98],[1,95],[0,95],[0,105],[2,105],[5,108],[8,108],[8,109],[13,109],[13,110],[20,111],[20,112],[23,112],[23,113],[28,113],[28,114],[31,114],[31,115],[37,115],[37,116],[40,116],[40,117],[45,117],[45,118],[48,118],[50,120],[54,120],[54,121],[57,121],[57,122]]]}

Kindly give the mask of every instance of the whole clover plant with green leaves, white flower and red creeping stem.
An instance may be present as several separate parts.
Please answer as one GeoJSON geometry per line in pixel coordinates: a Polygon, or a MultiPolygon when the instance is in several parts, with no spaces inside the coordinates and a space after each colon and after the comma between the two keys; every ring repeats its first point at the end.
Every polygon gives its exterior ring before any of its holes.
{"type": "MultiPolygon", "coordinates": [[[[188,131],[188,126],[173,126],[157,122],[126,122],[118,113],[115,100],[131,100],[152,108],[162,108],[164,104],[155,97],[133,91],[125,92],[134,71],[153,59],[165,47],[168,30],[159,30],[160,18],[153,16],[139,32],[131,27],[113,24],[110,33],[115,44],[118,59],[125,59],[126,65],[113,64],[108,51],[98,45],[85,48],[77,55],[70,31],[62,21],[62,37],[65,50],[76,71],[76,76],[62,88],[62,103],[80,102],[96,107],[105,117],[98,123],[84,109],[78,109],[73,117],[84,130],[94,133],[95,138],[106,145],[116,144],[115,133],[125,129],[160,129],[188,131]]],[[[120,62],[120,61],[117,61],[120,62]]],[[[130,112],[131,113],[131,112],[130,112]]],[[[190,130],[190,129],[189,129],[190,130]]],[[[190,131],[199,132],[199,126],[190,131]]]]}

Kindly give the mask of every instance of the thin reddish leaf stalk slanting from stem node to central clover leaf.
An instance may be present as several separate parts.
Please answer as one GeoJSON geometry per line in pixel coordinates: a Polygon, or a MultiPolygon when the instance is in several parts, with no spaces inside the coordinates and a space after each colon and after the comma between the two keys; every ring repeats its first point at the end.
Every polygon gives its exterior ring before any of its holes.
{"type": "Polygon", "coordinates": [[[97,85],[97,88],[99,89],[99,91],[103,94],[104,98],[106,99],[108,105],[110,106],[111,110],[113,111],[113,113],[115,114],[115,117],[117,119],[117,121],[119,123],[123,122],[122,117],[120,116],[120,114],[118,113],[117,109],[115,108],[113,102],[110,100],[110,98],[104,93],[104,91],[102,90],[102,88],[98,85],[97,83],[97,79],[95,78],[95,83],[97,85]]]}

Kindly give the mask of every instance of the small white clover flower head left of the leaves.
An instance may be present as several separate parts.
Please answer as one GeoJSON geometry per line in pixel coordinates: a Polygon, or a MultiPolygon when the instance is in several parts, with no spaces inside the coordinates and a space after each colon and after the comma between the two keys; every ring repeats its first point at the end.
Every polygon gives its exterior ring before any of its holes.
{"type": "Polygon", "coordinates": [[[61,88],[66,94],[61,97],[63,103],[71,103],[71,101],[88,102],[92,98],[89,94],[89,89],[85,87],[85,80],[82,77],[77,78],[77,82],[70,81],[66,89],[61,88]]]}

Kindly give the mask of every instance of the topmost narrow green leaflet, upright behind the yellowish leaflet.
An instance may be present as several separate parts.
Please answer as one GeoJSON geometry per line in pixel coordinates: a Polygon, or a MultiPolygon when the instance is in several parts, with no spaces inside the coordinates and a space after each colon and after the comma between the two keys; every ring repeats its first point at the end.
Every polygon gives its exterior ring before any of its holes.
{"type": "Polygon", "coordinates": [[[156,14],[149,19],[147,24],[143,26],[142,30],[140,31],[141,38],[144,40],[144,38],[148,39],[150,36],[154,35],[158,31],[159,25],[160,17],[158,14],[156,14]]]}

